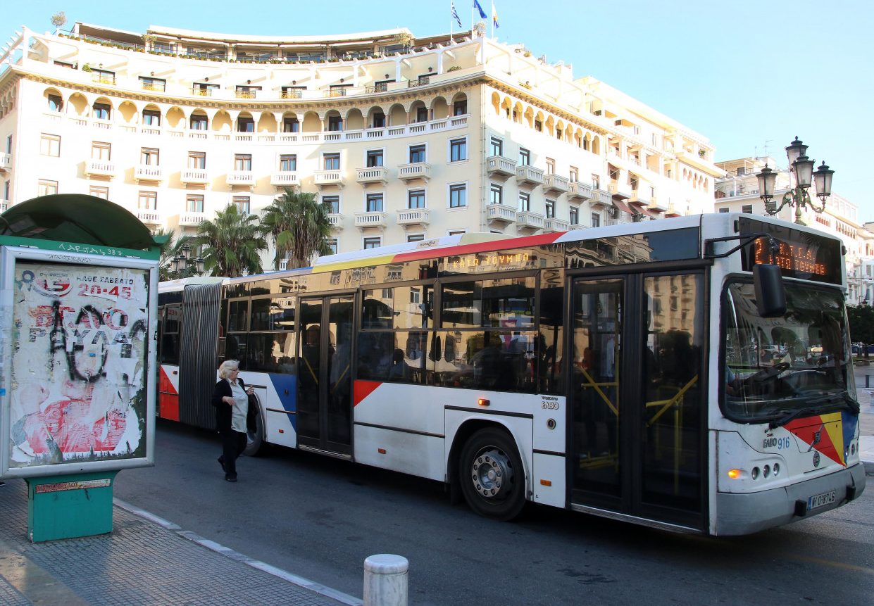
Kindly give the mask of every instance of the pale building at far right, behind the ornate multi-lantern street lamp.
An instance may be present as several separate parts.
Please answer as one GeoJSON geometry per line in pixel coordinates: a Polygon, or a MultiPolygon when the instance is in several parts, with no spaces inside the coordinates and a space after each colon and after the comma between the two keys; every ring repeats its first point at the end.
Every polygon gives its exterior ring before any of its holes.
{"type": "MultiPolygon", "coordinates": [[[[765,203],[760,198],[757,175],[766,165],[777,170],[774,201],[778,205],[783,194],[794,185],[790,181],[789,171],[781,169],[772,157],[739,158],[717,162],[716,165],[725,171],[725,177],[716,181],[717,212],[765,215],[765,203]]],[[[810,196],[817,205],[821,204],[815,197],[815,185],[811,186],[810,196]]],[[[795,213],[796,209],[787,205],[777,217],[791,222],[796,218],[795,213]]],[[[833,193],[825,204],[825,211],[817,213],[805,207],[801,210],[801,220],[843,240],[847,249],[847,302],[858,305],[863,301],[874,301],[874,224],[859,222],[856,204],[833,193]]]]}

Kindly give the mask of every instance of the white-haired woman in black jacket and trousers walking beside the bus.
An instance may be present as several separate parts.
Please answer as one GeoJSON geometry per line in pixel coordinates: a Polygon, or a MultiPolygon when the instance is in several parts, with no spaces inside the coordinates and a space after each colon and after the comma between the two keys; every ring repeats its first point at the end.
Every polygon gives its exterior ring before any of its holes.
{"type": "Polygon", "coordinates": [[[237,481],[237,458],[246,450],[246,415],[253,388],[239,378],[239,362],[225,360],[218,367],[218,382],[212,390],[216,428],[221,435],[222,455],[218,464],[228,482],[237,481]]]}

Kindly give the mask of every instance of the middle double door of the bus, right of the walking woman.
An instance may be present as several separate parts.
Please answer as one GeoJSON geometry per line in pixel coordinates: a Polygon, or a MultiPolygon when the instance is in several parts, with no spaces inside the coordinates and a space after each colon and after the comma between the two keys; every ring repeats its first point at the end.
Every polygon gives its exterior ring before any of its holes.
{"type": "Polygon", "coordinates": [[[303,449],[351,454],[351,296],[301,301],[297,442],[303,449]]]}

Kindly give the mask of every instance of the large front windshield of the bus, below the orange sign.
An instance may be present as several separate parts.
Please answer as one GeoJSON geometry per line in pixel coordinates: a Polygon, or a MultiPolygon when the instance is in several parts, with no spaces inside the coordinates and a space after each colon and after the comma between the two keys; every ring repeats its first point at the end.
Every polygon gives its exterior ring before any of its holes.
{"type": "Polygon", "coordinates": [[[786,313],[762,318],[753,284],[723,296],[726,417],[772,426],[827,410],[857,410],[841,293],[786,285],[786,313]]]}

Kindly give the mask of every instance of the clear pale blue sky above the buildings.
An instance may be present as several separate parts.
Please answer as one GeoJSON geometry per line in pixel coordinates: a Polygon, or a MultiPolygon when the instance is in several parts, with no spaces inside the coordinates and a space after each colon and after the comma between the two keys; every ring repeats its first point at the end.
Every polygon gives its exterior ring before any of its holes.
{"type": "MultiPolygon", "coordinates": [[[[455,0],[470,27],[472,0],[455,0]]],[[[489,0],[480,0],[489,13],[489,0]]],[[[3,0],[0,44],[21,25],[50,31],[53,13],[145,31],[150,24],[238,34],[313,35],[406,26],[449,30],[449,0],[378,3],[148,3],[3,0]]],[[[717,160],[770,155],[795,135],[836,170],[833,189],[874,220],[864,189],[874,161],[874,4],[866,0],[497,0],[503,42],[562,59],[704,134],[717,160]]]]}

